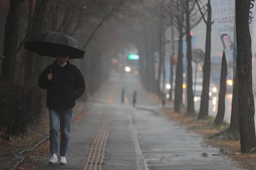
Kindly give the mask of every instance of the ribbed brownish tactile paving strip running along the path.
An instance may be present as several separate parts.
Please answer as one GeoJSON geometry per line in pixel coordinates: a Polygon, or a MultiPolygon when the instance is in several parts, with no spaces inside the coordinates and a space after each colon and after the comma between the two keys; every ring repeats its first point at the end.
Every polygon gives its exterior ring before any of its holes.
{"type": "Polygon", "coordinates": [[[101,170],[112,116],[113,108],[106,108],[81,170],[101,170]]]}

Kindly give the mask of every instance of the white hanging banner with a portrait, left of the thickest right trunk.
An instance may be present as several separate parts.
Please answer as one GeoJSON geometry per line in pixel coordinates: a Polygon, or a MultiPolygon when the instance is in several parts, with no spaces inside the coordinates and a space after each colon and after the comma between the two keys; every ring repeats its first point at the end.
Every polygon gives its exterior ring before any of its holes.
{"type": "Polygon", "coordinates": [[[227,66],[234,66],[234,48],[236,46],[235,0],[210,0],[212,16],[220,35],[227,66]]]}

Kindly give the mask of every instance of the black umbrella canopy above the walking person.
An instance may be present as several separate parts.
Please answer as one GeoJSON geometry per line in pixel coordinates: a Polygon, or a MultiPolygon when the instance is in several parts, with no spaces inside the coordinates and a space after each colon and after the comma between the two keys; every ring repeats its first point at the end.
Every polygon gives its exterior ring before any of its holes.
{"type": "Polygon", "coordinates": [[[24,49],[49,57],[67,54],[70,55],[69,59],[83,58],[85,53],[73,37],[58,32],[35,34],[25,42],[24,49]]]}

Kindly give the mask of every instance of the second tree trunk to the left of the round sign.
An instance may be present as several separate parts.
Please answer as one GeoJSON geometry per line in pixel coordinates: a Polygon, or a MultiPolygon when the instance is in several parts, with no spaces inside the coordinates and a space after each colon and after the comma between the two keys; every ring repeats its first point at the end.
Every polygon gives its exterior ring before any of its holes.
{"type": "MultiPolygon", "coordinates": [[[[182,17],[183,18],[183,17],[182,17]]],[[[175,97],[174,97],[174,110],[175,112],[180,111],[180,104],[182,103],[183,94],[183,27],[181,23],[179,24],[179,48],[178,48],[178,59],[176,67],[176,78],[175,78],[175,97]]]]}

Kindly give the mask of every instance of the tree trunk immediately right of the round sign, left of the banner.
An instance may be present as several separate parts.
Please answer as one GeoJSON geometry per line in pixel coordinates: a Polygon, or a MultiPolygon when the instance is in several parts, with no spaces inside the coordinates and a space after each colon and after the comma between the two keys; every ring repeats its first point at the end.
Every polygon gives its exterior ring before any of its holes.
{"type": "Polygon", "coordinates": [[[209,112],[209,87],[211,75],[211,32],[212,32],[212,9],[210,1],[207,3],[207,24],[206,24],[206,41],[204,54],[204,75],[203,75],[203,89],[200,102],[200,110],[198,119],[204,119],[209,112]]]}

